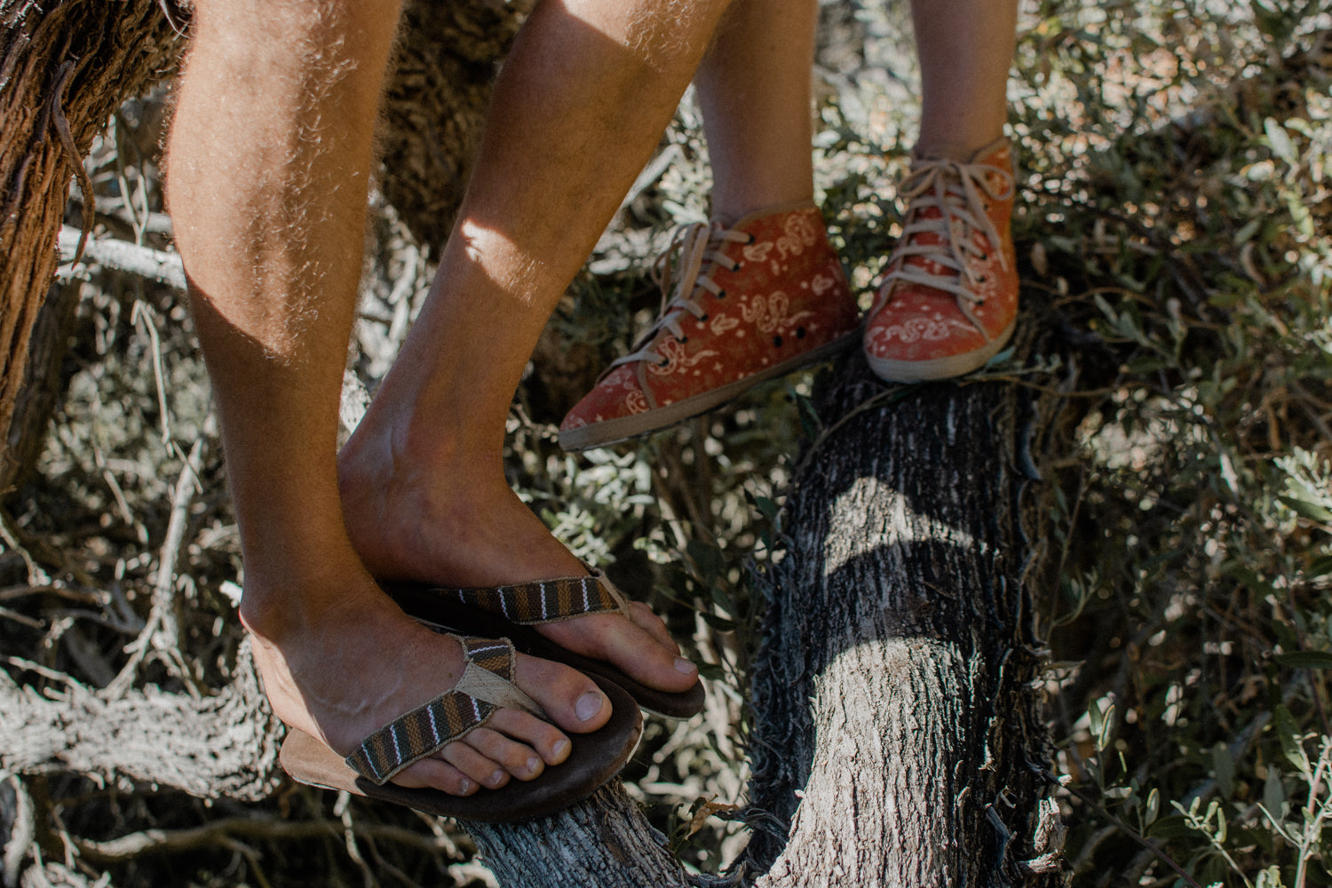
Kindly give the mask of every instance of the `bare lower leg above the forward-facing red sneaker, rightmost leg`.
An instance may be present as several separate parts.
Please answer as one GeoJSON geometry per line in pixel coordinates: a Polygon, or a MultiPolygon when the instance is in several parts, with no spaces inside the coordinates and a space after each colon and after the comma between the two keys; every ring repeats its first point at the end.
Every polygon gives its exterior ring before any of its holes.
{"type": "Polygon", "coordinates": [[[922,153],[966,160],[1003,136],[1016,0],[912,0],[920,55],[922,153]]]}

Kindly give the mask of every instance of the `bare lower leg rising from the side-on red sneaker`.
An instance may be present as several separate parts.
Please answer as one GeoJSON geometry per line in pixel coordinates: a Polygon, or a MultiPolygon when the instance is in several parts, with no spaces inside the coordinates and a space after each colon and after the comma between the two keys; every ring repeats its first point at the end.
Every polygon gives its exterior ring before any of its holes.
{"type": "Polygon", "coordinates": [[[737,0],[695,79],[713,165],[713,218],[731,225],[814,198],[814,0],[737,0]]]}

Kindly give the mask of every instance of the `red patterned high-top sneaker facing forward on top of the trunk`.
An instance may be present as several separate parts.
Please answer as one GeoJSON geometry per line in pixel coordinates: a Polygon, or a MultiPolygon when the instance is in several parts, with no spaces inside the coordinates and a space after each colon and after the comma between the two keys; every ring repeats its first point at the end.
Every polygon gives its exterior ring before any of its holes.
{"type": "Polygon", "coordinates": [[[888,382],[946,379],[999,353],[1018,317],[1008,140],[967,162],[916,157],[907,217],[864,329],[870,367],[888,382]]]}

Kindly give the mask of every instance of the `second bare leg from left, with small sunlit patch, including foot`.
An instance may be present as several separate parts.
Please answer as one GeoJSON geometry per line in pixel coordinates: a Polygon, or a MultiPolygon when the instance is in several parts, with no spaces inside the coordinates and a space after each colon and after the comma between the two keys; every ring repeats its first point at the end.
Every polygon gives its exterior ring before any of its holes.
{"type": "MultiPolygon", "coordinates": [[[[725,5],[545,0],[533,12],[496,85],[430,300],[340,457],[349,531],[377,575],[489,586],[585,572],[505,482],[505,419],[550,312],[650,157],[725,5]]],[[[541,631],[666,691],[697,680],[643,606],[633,620],[541,631]]]]}

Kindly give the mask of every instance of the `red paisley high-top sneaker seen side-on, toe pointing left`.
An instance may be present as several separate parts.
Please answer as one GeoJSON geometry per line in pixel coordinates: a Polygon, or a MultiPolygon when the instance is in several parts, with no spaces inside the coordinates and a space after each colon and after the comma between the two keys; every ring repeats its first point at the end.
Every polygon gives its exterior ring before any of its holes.
{"type": "Polygon", "coordinates": [[[687,225],[657,261],[662,313],[559,426],[586,450],[665,429],[836,351],[859,325],[823,216],[810,204],[687,225]],[[671,294],[670,254],[679,249],[671,294]],[[669,301],[667,301],[669,297],[669,301]]]}

